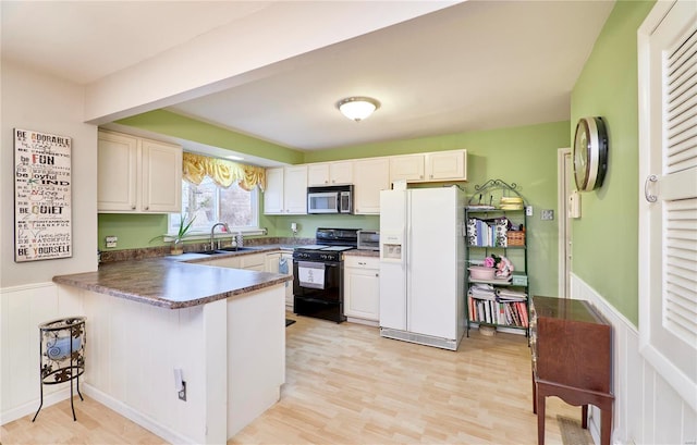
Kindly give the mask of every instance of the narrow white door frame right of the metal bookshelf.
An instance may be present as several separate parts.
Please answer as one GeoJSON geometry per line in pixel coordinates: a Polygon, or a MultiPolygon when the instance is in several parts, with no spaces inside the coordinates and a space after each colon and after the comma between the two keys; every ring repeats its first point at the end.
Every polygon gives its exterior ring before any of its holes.
{"type": "Polygon", "coordinates": [[[571,148],[557,150],[557,218],[558,218],[558,295],[571,297],[571,222],[568,220],[568,195],[571,178],[571,148]],[[566,161],[568,159],[568,161],[566,161]]]}

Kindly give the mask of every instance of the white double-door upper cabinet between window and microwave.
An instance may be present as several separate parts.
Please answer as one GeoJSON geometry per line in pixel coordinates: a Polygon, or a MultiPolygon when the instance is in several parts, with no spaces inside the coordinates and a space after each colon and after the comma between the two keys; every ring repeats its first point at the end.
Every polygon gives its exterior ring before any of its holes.
{"type": "Polygon", "coordinates": [[[307,165],[266,170],[265,214],[307,214],[307,165]]]}

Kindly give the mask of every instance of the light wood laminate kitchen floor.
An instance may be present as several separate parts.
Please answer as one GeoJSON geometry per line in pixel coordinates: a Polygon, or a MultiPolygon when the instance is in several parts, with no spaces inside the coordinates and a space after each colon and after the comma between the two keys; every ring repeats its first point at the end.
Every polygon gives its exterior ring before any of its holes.
{"type": "MultiPolygon", "coordinates": [[[[527,338],[476,330],[456,353],[381,338],[377,327],[289,316],[281,400],[229,444],[536,444],[527,338]]],[[[548,399],[548,445],[557,416],[580,408],[548,399]]],[[[86,397],[0,428],[10,444],[162,444],[86,397]]]]}

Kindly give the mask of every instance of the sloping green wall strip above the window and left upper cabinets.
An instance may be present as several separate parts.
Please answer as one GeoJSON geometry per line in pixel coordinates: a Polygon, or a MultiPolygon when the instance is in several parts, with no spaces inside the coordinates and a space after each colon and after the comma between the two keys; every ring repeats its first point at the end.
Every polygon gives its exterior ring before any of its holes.
{"type": "Polygon", "coordinates": [[[167,110],[149,111],[122,119],[117,123],[289,164],[303,162],[302,151],[195,121],[167,110]]]}

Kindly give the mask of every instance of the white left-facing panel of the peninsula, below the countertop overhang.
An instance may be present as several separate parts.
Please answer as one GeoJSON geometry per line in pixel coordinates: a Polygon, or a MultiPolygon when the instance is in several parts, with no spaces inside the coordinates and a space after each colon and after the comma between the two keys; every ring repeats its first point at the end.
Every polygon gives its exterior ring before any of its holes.
{"type": "Polygon", "coordinates": [[[87,394],[168,441],[205,443],[203,306],[171,310],[87,291],[83,299],[91,335],[87,394]],[[175,368],[186,401],[174,387],[175,368]]]}

